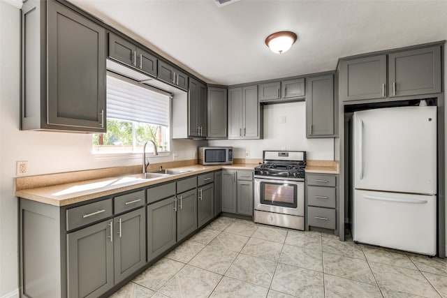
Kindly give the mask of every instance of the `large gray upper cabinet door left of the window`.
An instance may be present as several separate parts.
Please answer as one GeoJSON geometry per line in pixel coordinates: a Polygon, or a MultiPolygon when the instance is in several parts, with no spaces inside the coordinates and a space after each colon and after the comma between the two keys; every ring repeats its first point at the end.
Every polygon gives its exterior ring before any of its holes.
{"type": "Polygon", "coordinates": [[[105,132],[105,29],[47,4],[47,124],[105,132]]]}

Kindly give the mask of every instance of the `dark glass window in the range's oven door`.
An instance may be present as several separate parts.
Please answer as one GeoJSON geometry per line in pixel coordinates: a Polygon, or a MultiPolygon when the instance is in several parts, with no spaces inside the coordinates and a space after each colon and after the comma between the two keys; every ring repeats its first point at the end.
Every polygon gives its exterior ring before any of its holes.
{"type": "Polygon", "coordinates": [[[261,204],[296,208],[298,186],[296,184],[264,182],[260,184],[261,204]]]}

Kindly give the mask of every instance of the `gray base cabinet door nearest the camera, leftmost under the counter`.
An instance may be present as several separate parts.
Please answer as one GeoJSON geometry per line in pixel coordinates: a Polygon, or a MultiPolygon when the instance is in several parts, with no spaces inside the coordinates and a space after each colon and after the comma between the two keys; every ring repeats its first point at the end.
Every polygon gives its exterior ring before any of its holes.
{"type": "Polygon", "coordinates": [[[68,297],[98,297],[113,286],[113,221],[67,234],[68,297]]]}

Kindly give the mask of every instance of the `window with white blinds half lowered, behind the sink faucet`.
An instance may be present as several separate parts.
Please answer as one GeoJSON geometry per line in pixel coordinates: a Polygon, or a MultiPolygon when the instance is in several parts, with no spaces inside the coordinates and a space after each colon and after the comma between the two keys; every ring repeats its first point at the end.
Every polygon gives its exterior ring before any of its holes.
{"type": "MultiPolygon", "coordinates": [[[[148,140],[169,151],[170,96],[131,80],[107,76],[107,133],[93,137],[94,153],[138,153],[148,140]]],[[[148,143],[147,151],[153,147],[148,143]]]]}

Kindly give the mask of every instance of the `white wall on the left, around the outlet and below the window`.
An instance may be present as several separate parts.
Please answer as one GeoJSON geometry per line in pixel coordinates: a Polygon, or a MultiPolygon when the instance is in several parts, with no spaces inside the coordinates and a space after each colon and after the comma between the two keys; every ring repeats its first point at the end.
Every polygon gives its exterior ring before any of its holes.
{"type": "MultiPolygon", "coordinates": [[[[91,135],[20,131],[20,10],[0,0],[0,297],[17,290],[17,198],[15,162],[28,161],[28,173],[47,174],[124,165],[128,160],[95,158],[91,135]]],[[[178,160],[193,159],[206,142],[173,140],[178,160]]],[[[150,158],[152,163],[172,156],[150,158]]]]}

